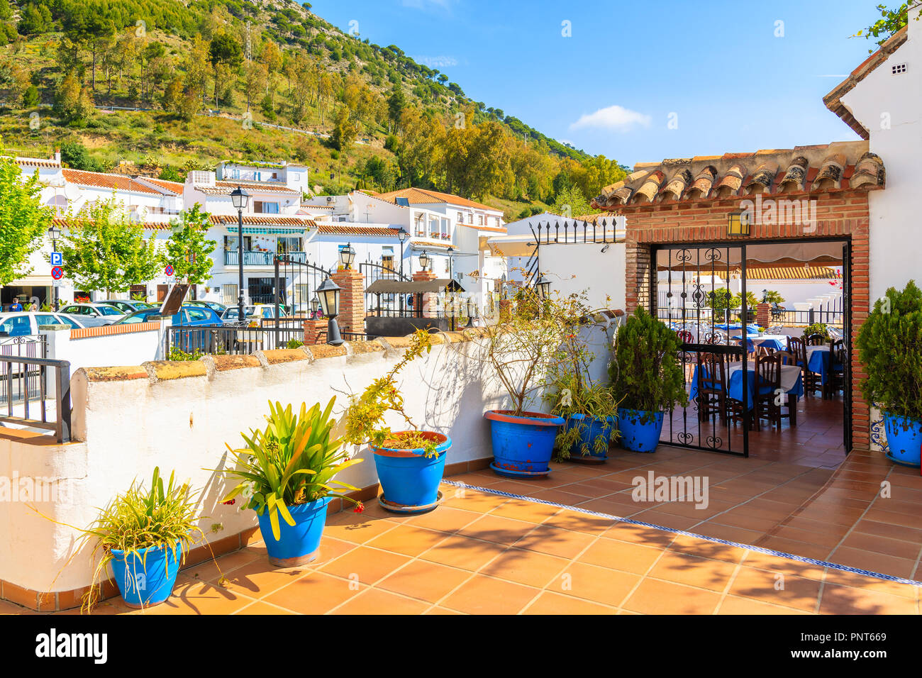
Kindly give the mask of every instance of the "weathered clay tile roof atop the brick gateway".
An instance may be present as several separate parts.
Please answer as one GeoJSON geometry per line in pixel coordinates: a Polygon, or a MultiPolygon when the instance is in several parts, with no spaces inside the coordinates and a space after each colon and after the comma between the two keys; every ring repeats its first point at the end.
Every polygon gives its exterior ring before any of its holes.
{"type": "Polygon", "coordinates": [[[756,194],[832,193],[883,188],[883,161],[867,141],[842,141],[794,149],[727,153],[662,162],[639,162],[634,172],[602,189],[592,207],[625,207],[720,200],[756,194]]]}

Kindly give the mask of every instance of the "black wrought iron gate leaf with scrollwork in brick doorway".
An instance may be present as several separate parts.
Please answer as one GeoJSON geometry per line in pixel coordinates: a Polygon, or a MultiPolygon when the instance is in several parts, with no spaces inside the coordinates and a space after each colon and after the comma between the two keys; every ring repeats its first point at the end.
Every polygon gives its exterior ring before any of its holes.
{"type": "Polygon", "coordinates": [[[749,457],[751,417],[750,364],[747,326],[755,320],[746,294],[739,309],[731,308],[733,281],[746,290],[746,245],[700,244],[655,246],[651,252],[650,311],[676,331],[689,403],[665,413],[659,442],[749,457]],[[739,319],[738,319],[739,317],[739,319]],[[751,318],[751,319],[750,319],[751,318]],[[740,338],[735,341],[735,338],[740,338]],[[733,417],[699,409],[699,357],[716,354],[725,363],[727,383],[739,372],[725,397],[733,417]],[[736,397],[736,398],[734,398],[736,397]]]}

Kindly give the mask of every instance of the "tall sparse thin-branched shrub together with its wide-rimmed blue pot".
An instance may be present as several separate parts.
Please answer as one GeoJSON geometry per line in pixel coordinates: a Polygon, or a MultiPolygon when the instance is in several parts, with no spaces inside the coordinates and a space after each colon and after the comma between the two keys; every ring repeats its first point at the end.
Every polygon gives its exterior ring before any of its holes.
{"type": "Polygon", "coordinates": [[[491,423],[491,469],[515,478],[541,477],[550,473],[554,440],[565,421],[559,414],[526,408],[548,387],[550,366],[560,360],[559,347],[569,330],[559,304],[534,288],[522,288],[514,296],[514,308],[502,309],[501,324],[491,327],[485,354],[510,407],[483,416],[491,423]]]}

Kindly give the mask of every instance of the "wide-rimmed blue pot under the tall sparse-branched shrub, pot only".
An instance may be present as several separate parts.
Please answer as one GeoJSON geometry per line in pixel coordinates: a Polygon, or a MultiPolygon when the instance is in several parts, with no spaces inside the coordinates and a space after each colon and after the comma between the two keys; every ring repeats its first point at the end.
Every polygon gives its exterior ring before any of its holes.
{"type": "Polygon", "coordinates": [[[550,471],[554,438],[564,424],[561,417],[540,412],[515,416],[509,410],[488,410],[483,416],[491,424],[493,470],[501,475],[508,471],[517,477],[550,471]]]}

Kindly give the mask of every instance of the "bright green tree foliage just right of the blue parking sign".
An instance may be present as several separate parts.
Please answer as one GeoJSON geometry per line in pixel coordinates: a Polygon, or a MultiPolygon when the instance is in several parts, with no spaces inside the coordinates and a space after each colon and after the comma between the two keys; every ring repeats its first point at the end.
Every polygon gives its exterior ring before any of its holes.
{"type": "Polygon", "coordinates": [[[58,249],[67,276],[78,288],[128,291],[160,273],[162,259],[154,237],[132,222],[114,196],[84,205],[68,219],[58,249]]]}

